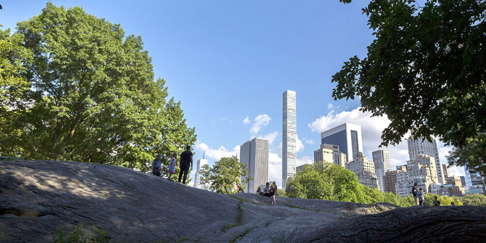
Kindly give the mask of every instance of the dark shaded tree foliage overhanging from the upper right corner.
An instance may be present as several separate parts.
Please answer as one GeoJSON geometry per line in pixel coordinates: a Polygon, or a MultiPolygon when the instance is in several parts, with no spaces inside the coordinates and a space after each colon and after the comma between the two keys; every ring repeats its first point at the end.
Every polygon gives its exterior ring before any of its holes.
{"type": "Polygon", "coordinates": [[[333,97],[360,97],[362,111],[387,115],[382,146],[417,128],[416,137],[485,151],[486,0],[423,2],[370,1],[363,13],[376,39],[332,76],[333,97]]]}

